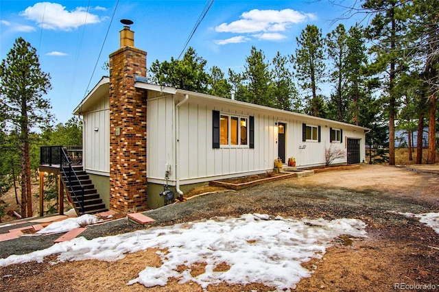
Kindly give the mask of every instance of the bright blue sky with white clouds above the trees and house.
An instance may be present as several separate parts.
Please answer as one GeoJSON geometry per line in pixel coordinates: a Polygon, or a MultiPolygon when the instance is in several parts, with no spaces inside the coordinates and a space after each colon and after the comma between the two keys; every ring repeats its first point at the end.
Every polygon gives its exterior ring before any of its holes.
{"type": "MultiPolygon", "coordinates": [[[[344,5],[353,2],[338,1],[344,5]]],[[[134,21],[134,45],[147,51],[149,68],[155,60],[178,57],[206,3],[0,0],[0,58],[6,58],[18,37],[36,48],[41,68],[51,75],[52,90],[47,95],[51,112],[57,122],[64,123],[86,93],[108,75],[102,65],[119,48],[121,19],[134,21]]],[[[216,0],[189,46],[207,60],[209,68],[239,72],[252,46],[262,49],[267,60],[277,51],[291,55],[296,37],[306,25],[317,25],[325,35],[335,29],[337,23],[332,21],[343,12],[328,0],[216,0]]],[[[348,29],[355,19],[343,23],[348,29]]]]}

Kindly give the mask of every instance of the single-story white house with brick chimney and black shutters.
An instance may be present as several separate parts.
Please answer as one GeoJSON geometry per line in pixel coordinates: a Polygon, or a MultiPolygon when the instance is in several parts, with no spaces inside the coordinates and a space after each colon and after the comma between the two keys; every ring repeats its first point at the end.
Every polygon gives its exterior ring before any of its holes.
{"type": "MultiPolygon", "coordinates": [[[[325,149],[365,157],[365,127],[194,93],[146,80],[146,52],[121,31],[110,77],[74,110],[82,115],[83,165],[112,210],[157,208],[169,184],[178,193],[210,180],[273,169],[296,158],[298,168],[324,165],[325,149]]],[[[178,194],[176,194],[178,195],[178,194]]]]}

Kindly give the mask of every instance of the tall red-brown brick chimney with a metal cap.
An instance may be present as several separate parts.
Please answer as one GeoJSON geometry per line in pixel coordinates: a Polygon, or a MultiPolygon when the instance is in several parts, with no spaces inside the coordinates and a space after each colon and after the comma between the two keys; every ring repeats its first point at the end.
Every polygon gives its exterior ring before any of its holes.
{"type": "Polygon", "coordinates": [[[122,20],[120,48],[110,54],[110,209],[147,208],[146,93],[134,75],[146,77],[145,51],[134,47],[134,32],[122,20]]]}

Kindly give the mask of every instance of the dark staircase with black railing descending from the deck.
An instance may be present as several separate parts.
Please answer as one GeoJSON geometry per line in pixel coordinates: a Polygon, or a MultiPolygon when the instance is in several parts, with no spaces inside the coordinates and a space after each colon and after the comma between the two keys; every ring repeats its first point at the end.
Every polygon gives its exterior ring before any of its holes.
{"type": "Polygon", "coordinates": [[[102,202],[99,193],[97,193],[95,185],[84,171],[82,165],[72,165],[71,169],[64,167],[64,171],[61,171],[61,175],[67,196],[69,197],[69,201],[73,204],[76,214],[93,214],[108,210],[105,208],[105,204],[102,202]],[[75,175],[72,175],[71,172],[75,175]],[[70,182],[66,175],[70,176],[70,182]],[[82,188],[84,189],[84,199],[82,199],[82,188]]]}

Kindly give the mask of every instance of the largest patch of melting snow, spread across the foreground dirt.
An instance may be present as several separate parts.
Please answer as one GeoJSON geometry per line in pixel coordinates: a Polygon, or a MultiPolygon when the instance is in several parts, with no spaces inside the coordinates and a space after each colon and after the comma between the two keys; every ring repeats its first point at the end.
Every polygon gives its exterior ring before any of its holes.
{"type": "Polygon", "coordinates": [[[219,217],[211,220],[180,223],[139,230],[117,236],[88,241],[84,237],[58,243],[22,256],[0,259],[0,267],[59,254],[65,260],[119,260],[124,254],[158,247],[161,267],[146,267],[139,282],[146,287],[165,285],[171,277],[180,282],[192,280],[202,287],[219,282],[248,284],[261,282],[277,290],[295,288],[300,278],[311,271],[300,264],[311,258],[322,258],[333,239],[342,234],[366,237],[366,224],[357,219],[285,219],[268,215],[247,214],[238,218],[219,217]],[[206,263],[205,273],[191,276],[193,263],[206,263]],[[219,263],[227,263],[228,271],[213,271],[219,263]],[[177,267],[188,269],[179,273],[177,267]]]}

